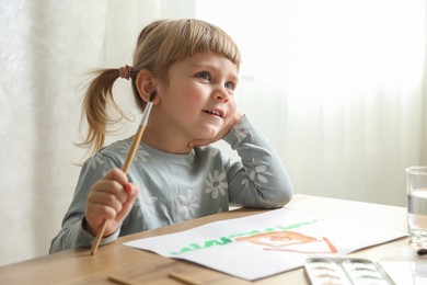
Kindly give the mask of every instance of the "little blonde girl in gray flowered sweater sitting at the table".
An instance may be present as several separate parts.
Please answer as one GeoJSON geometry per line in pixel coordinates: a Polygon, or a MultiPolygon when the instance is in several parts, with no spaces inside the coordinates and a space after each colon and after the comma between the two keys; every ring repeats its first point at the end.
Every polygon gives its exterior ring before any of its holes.
{"type": "Polygon", "coordinates": [[[229,209],[276,208],[292,195],[278,156],[249,118],[236,111],[240,52],[219,27],[199,20],[155,21],[142,30],[134,66],[100,70],[86,91],[83,142],[93,157],[82,167],[62,228],[50,252],[90,247],[104,219],[101,244],[119,236],[229,209]],[[131,138],[103,148],[116,107],[117,78],[131,80],[142,111],[157,91],[128,175],[122,170],[131,138]],[[209,146],[223,139],[238,151],[232,161],[209,146]]]}

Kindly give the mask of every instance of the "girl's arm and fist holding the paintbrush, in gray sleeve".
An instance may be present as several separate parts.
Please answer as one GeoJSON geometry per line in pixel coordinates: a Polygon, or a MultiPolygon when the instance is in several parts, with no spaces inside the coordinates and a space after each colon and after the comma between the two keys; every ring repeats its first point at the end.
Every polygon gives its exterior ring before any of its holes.
{"type": "Polygon", "coordinates": [[[108,221],[112,228],[107,232],[108,236],[103,238],[102,244],[117,239],[119,235],[118,225],[130,210],[130,206],[127,205],[134,203],[138,189],[131,183],[124,183],[125,180],[127,181],[126,175],[119,173],[120,170],[115,169],[116,167],[117,162],[103,157],[102,153],[97,153],[84,163],[71,205],[62,220],[62,227],[51,241],[50,253],[91,247],[97,230],[96,225],[102,223],[104,218],[113,219],[112,223],[108,221]],[[115,170],[112,171],[112,169],[115,170]],[[120,183],[124,184],[123,187],[117,187],[117,184],[120,183]],[[111,190],[108,184],[115,185],[116,190],[111,190]],[[116,196],[114,191],[122,192],[117,198],[114,198],[116,196]],[[125,196],[127,198],[124,198],[125,196]],[[117,201],[122,201],[123,206],[118,205],[117,201]],[[100,206],[100,203],[104,206],[100,206]],[[108,205],[111,203],[114,205],[108,205]],[[124,210],[120,213],[120,209],[124,210]]]}

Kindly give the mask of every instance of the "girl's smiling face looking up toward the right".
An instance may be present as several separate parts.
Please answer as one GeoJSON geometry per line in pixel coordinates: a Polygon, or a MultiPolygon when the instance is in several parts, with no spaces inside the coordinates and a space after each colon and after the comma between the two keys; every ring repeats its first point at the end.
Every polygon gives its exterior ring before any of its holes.
{"type": "Polygon", "coordinates": [[[238,72],[232,61],[215,53],[174,62],[168,82],[157,87],[162,127],[186,144],[215,137],[236,112],[238,72]]]}

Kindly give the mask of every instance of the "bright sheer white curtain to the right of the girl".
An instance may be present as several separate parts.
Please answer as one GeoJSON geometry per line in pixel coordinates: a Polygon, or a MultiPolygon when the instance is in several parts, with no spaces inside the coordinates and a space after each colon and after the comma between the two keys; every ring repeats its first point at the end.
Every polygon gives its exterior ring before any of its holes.
{"type": "Polygon", "coordinates": [[[197,3],[240,45],[241,106],[297,193],[405,205],[405,167],[427,164],[425,0],[197,3]]]}

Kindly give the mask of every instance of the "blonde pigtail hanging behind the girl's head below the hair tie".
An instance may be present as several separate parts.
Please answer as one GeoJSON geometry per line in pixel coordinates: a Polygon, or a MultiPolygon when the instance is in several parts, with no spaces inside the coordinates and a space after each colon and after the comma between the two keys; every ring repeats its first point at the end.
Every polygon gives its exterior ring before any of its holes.
{"type": "Polygon", "coordinates": [[[88,122],[88,130],[79,146],[90,148],[92,156],[104,146],[107,126],[120,121],[124,115],[113,98],[113,84],[119,77],[118,69],[100,69],[90,73],[94,78],[85,92],[81,117],[81,121],[88,122]],[[112,118],[111,111],[116,111],[119,118],[112,118]]]}

